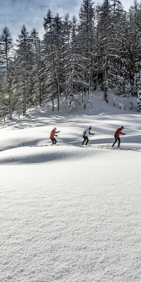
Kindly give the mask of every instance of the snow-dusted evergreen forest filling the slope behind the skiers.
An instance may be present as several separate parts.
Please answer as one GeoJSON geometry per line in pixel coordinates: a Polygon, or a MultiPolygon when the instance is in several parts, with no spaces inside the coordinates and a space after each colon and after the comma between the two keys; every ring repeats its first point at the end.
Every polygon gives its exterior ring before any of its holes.
{"type": "Polygon", "coordinates": [[[63,18],[50,9],[44,17],[44,37],[23,24],[16,44],[7,26],[0,36],[0,121],[13,111],[47,106],[54,99],[69,112],[91,103],[90,92],[136,95],[141,112],[141,3],[128,12],[119,0],[95,5],[83,0],[79,18],[63,18]]]}

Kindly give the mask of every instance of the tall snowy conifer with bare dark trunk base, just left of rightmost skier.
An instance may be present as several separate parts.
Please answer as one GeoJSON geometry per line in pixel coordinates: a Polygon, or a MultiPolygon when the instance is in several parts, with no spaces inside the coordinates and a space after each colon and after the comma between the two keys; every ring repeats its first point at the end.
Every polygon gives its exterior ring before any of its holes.
{"type": "Polygon", "coordinates": [[[123,7],[118,0],[104,0],[99,15],[99,58],[100,71],[103,70],[104,100],[108,102],[108,90],[115,89],[118,69],[116,60],[120,59],[119,46],[123,38],[120,28],[123,22],[123,7]]]}

